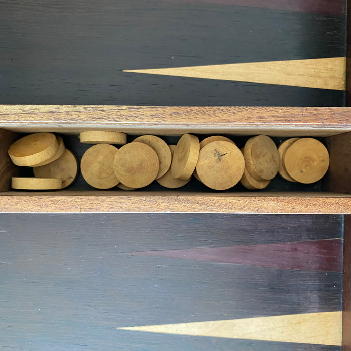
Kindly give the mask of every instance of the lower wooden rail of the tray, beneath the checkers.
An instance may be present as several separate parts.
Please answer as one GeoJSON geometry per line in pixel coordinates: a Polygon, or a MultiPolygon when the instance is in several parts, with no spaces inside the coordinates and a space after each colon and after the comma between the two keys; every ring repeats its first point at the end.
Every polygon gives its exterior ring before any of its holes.
{"type": "MultiPolygon", "coordinates": [[[[97,194],[67,191],[8,192],[0,195],[2,213],[260,213],[347,214],[351,196],[315,193],[283,196],[248,195],[147,195],[142,192],[97,194]],[[92,195],[94,194],[94,195],[92,195]]],[[[261,194],[261,195],[259,195],[261,194]]]]}

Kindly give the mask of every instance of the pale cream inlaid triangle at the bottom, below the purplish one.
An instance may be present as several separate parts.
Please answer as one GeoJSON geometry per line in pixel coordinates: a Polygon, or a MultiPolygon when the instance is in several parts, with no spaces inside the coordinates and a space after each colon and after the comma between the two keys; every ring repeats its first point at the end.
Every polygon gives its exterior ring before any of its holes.
{"type": "Polygon", "coordinates": [[[233,339],[341,345],[342,312],[216,320],[117,329],[233,339]]]}

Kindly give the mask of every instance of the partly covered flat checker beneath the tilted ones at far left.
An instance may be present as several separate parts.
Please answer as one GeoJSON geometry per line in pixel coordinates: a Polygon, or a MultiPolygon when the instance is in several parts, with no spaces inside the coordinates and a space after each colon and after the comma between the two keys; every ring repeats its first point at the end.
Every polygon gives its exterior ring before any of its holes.
{"type": "Polygon", "coordinates": [[[78,161],[70,150],[65,149],[62,156],[56,161],[34,167],[33,172],[38,178],[60,178],[62,180],[61,188],[66,188],[77,178],[78,161]]]}

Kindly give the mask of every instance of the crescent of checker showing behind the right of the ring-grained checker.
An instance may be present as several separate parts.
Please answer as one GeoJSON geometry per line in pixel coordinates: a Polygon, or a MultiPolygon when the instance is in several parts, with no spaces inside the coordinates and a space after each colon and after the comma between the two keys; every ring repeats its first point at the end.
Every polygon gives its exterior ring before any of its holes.
{"type": "Polygon", "coordinates": [[[165,141],[163,141],[158,136],[142,135],[133,140],[133,142],[142,142],[154,149],[159,158],[159,170],[156,179],[163,177],[163,175],[168,171],[170,164],[172,163],[172,154],[165,141]]]}

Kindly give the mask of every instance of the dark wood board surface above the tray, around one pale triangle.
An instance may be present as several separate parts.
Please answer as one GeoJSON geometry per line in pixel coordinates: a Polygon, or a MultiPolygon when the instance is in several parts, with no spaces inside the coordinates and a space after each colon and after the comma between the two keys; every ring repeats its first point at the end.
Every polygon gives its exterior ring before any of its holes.
{"type": "Polygon", "coordinates": [[[345,2],[260,3],[4,1],[0,103],[344,106],[344,91],[123,72],[346,56],[345,2]]]}

